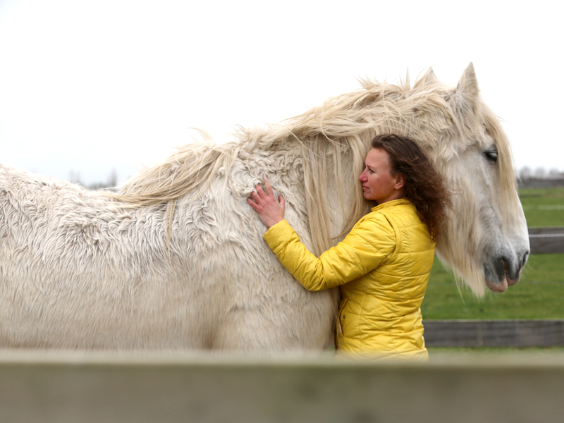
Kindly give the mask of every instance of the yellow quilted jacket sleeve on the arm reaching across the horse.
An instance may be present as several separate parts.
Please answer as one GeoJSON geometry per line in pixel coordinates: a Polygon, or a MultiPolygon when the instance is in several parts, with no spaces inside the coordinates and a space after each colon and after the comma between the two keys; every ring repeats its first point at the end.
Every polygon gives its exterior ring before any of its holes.
{"type": "Polygon", "coordinates": [[[286,220],[269,228],[264,240],[307,290],[324,290],[354,281],[376,269],[396,249],[396,233],[381,214],[359,221],[341,243],[319,259],[300,242],[286,220]]]}

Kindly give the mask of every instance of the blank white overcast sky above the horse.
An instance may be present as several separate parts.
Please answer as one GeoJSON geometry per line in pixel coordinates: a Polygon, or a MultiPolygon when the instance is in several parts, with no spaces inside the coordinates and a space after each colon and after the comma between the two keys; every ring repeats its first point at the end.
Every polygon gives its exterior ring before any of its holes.
{"type": "Polygon", "coordinates": [[[544,0],[0,0],[0,163],[123,181],[189,127],[224,140],[357,77],[432,66],[455,85],[472,61],[517,168],[564,171],[560,17],[544,0]]]}

